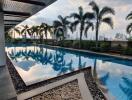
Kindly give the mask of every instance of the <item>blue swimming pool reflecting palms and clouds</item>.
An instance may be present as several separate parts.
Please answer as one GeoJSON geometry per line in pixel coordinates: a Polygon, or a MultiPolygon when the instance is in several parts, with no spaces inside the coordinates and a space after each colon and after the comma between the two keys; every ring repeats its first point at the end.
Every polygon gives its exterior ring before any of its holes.
{"type": "Polygon", "coordinates": [[[116,100],[132,100],[132,61],[43,45],[7,45],[26,85],[92,66],[116,100]]]}

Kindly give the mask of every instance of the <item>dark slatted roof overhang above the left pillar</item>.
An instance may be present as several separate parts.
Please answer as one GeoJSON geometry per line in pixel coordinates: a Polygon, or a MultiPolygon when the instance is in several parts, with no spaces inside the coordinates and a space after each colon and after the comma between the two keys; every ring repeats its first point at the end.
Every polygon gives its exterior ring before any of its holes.
{"type": "Polygon", "coordinates": [[[56,0],[0,0],[5,28],[19,24],[56,0]]]}

